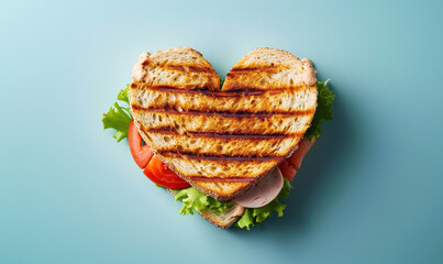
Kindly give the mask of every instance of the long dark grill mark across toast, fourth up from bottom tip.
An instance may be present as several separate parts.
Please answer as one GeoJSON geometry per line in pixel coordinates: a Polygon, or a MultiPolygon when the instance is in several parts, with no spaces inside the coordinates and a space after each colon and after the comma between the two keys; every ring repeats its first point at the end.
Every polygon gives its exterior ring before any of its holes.
{"type": "Polygon", "coordinates": [[[314,113],[315,109],[310,108],[307,110],[292,110],[291,112],[276,110],[273,112],[246,112],[246,111],[237,111],[237,112],[228,112],[228,111],[199,111],[199,110],[187,110],[187,111],[178,111],[174,108],[143,108],[137,105],[131,105],[133,111],[145,111],[145,112],[159,112],[159,113],[174,113],[174,114],[185,114],[185,116],[204,116],[204,117],[213,117],[220,116],[224,118],[273,118],[273,117],[301,117],[314,113]]]}

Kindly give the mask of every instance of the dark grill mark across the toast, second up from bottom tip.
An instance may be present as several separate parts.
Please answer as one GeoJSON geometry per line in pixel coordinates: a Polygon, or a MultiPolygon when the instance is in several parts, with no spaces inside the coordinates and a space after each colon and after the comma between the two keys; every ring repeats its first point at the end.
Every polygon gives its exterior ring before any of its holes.
{"type": "Polygon", "coordinates": [[[222,161],[222,162],[278,162],[284,156],[228,156],[228,155],[195,155],[193,153],[186,152],[173,152],[173,151],[160,151],[157,150],[157,153],[165,157],[173,158],[189,158],[189,160],[200,160],[200,161],[222,161]]]}

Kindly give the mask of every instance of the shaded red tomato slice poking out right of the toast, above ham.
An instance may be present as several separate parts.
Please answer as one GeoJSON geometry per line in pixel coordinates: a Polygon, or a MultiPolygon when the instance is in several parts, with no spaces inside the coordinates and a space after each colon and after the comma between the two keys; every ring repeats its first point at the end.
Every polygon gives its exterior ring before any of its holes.
{"type": "Polygon", "coordinates": [[[298,148],[297,151],[294,152],[294,154],[280,165],[278,165],[278,168],[280,169],[283,176],[289,180],[292,180],[294,177],[296,176],[297,169],[301,166],[301,162],[303,162],[303,157],[308,153],[309,148],[311,148],[312,144],[315,142],[315,139],[312,139],[311,141],[307,139],[301,139],[300,142],[298,143],[298,148]]]}

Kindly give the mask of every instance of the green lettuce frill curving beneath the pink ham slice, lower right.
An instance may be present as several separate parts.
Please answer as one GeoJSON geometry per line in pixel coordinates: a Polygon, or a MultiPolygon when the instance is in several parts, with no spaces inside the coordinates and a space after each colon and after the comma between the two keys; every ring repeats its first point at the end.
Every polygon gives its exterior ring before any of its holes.
{"type": "Polygon", "coordinates": [[[283,217],[283,211],[286,205],[280,199],[286,199],[289,196],[291,186],[288,179],[285,179],[284,186],[278,196],[269,204],[261,208],[246,208],[244,215],[235,222],[237,228],[246,228],[250,230],[252,227],[258,227],[268,217],[273,216],[276,211],[278,217],[283,217]]]}

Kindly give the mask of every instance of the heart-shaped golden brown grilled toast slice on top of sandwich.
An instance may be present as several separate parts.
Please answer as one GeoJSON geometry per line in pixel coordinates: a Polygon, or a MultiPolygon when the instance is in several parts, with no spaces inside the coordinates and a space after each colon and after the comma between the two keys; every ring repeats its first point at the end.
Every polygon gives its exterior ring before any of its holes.
{"type": "Polygon", "coordinates": [[[189,47],[142,54],[130,100],[143,140],[181,178],[219,200],[257,184],[290,155],[317,107],[308,59],[257,48],[228,74],[189,47]]]}

